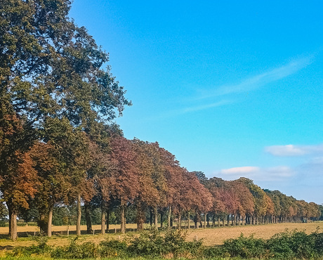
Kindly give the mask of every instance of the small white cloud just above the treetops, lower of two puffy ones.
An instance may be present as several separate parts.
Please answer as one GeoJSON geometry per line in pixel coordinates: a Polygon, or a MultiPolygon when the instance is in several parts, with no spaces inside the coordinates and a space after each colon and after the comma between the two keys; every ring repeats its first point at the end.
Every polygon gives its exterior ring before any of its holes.
{"type": "Polygon", "coordinates": [[[254,166],[235,167],[230,169],[221,169],[219,176],[225,179],[237,179],[240,177],[251,178],[254,181],[278,181],[282,178],[288,178],[295,174],[295,171],[287,166],[277,166],[261,168],[254,166]]]}

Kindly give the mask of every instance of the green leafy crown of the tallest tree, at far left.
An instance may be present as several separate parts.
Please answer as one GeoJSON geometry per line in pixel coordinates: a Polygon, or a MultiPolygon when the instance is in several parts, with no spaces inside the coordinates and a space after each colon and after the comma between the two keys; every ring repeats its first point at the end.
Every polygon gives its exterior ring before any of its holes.
{"type": "Polygon", "coordinates": [[[10,142],[1,150],[3,182],[10,158],[45,139],[48,118],[67,119],[88,132],[93,122],[110,122],[131,105],[109,68],[101,69],[107,53],[68,17],[70,4],[1,1],[0,143],[10,142]],[[22,131],[15,131],[18,126],[22,131]]]}

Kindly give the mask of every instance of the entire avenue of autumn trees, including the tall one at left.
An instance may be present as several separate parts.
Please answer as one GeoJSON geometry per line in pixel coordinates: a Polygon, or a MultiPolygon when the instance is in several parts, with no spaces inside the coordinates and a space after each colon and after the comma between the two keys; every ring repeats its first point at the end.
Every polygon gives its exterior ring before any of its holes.
{"type": "Polygon", "coordinates": [[[77,235],[84,209],[111,212],[126,230],[136,209],[138,230],[303,221],[319,206],[263,190],[248,178],[223,181],[189,172],[158,143],[128,140],[113,119],[131,105],[108,55],[68,17],[67,0],[3,0],[0,6],[0,195],[9,235],[34,212],[51,236],[58,206],[75,205],[77,235]],[[55,217],[55,216],[54,216],[55,217]],[[160,224],[159,224],[159,223],[160,224]],[[211,226],[209,223],[209,226],[211,226]]]}

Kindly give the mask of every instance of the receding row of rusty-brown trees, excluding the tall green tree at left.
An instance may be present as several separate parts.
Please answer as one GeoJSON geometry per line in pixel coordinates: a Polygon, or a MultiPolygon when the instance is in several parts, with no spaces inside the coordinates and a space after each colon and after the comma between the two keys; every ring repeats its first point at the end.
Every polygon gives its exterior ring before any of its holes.
{"type": "MultiPolygon", "coordinates": [[[[67,129],[58,132],[66,134],[67,129]]],[[[27,152],[29,160],[21,166],[34,171],[34,197],[29,197],[28,205],[20,205],[18,214],[24,218],[24,207],[36,209],[39,226],[49,236],[55,205],[74,203],[78,235],[81,204],[88,233],[92,233],[89,211],[100,209],[103,234],[109,228],[110,212],[115,209],[121,232],[125,232],[129,207],[136,208],[138,230],[143,229],[146,212],[150,212],[156,228],[159,219],[161,227],[164,220],[171,227],[176,219],[181,228],[185,219],[187,228],[191,220],[197,228],[205,227],[206,222],[211,226],[210,220],[212,226],[220,226],[221,222],[223,226],[235,226],[303,221],[320,215],[317,204],[296,200],[278,190],[263,190],[249,178],[224,181],[208,179],[200,171],[189,172],[158,143],[128,140],[111,129],[104,129],[103,134],[100,140],[93,141],[79,132],[73,141],[82,141],[73,145],[67,142],[67,137],[72,136],[68,134],[61,142],[55,139],[58,147],[52,141],[35,142],[27,152]],[[75,155],[68,156],[72,154],[75,155]]]]}

